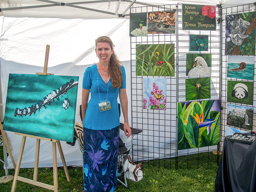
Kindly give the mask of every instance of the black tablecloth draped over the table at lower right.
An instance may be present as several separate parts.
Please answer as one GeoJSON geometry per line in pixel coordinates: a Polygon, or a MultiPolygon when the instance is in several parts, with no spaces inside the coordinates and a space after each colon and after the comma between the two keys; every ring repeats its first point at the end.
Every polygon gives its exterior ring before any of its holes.
{"type": "Polygon", "coordinates": [[[256,191],[256,141],[252,144],[224,140],[215,180],[215,192],[256,191]]]}

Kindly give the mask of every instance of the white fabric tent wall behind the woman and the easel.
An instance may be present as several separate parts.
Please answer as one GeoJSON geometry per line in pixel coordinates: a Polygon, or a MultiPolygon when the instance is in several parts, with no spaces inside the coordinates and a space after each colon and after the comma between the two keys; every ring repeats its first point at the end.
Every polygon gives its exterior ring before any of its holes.
{"type": "MultiPolygon", "coordinates": [[[[48,73],[61,76],[79,76],[76,121],[81,123],[82,80],[85,68],[98,62],[95,39],[109,36],[115,44],[115,52],[126,69],[128,112],[131,114],[131,67],[129,20],[127,19],[50,19],[0,17],[1,39],[1,88],[5,104],[9,73],[36,74],[43,72],[46,45],[50,45],[48,73]]],[[[5,106],[3,106],[5,107],[5,106]]],[[[50,111],[49,111],[50,112],[50,111]]],[[[21,118],[21,117],[18,117],[21,118]]],[[[131,115],[129,115],[131,121],[131,115]]],[[[93,121],[93,120],[92,120],[93,121]]],[[[121,115],[120,121],[124,123],[121,115]]],[[[17,163],[22,137],[5,131],[12,155],[17,163]]],[[[124,133],[121,132],[124,138],[124,133]]],[[[27,138],[21,168],[34,167],[36,139],[27,138]]],[[[62,142],[67,165],[82,165],[82,155],[76,141],[75,146],[62,142]]],[[[57,165],[62,166],[57,155],[57,165]]],[[[52,142],[41,141],[39,167],[52,166],[52,142]]],[[[13,168],[10,158],[8,167],[13,168]]]]}

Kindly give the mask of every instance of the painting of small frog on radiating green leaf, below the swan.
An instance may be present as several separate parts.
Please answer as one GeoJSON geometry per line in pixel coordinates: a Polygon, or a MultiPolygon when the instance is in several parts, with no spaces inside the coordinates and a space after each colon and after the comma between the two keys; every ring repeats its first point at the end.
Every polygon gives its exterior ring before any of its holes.
{"type": "Polygon", "coordinates": [[[211,98],[211,78],[189,78],[185,80],[186,100],[201,100],[211,98]]]}

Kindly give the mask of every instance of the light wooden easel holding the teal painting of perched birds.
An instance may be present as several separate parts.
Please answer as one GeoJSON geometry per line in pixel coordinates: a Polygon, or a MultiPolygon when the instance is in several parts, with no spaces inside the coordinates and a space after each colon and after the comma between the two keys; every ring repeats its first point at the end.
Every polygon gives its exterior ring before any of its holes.
{"type": "MultiPolygon", "coordinates": [[[[44,60],[44,72],[43,73],[36,73],[38,75],[53,75],[53,74],[47,73],[49,50],[50,50],[50,45],[46,45],[45,60],[44,60]]],[[[53,140],[53,139],[48,139],[48,138],[44,138],[44,137],[37,137],[37,136],[33,136],[33,135],[27,135],[27,134],[16,133],[16,132],[15,132],[15,134],[16,135],[21,135],[23,137],[22,137],[22,141],[21,141],[20,153],[19,153],[19,157],[18,157],[18,162],[17,162],[17,167],[16,167],[16,170],[15,170],[14,178],[13,178],[12,191],[11,192],[15,191],[17,180],[25,182],[25,183],[32,184],[32,185],[36,185],[36,186],[39,186],[39,187],[43,187],[43,188],[46,188],[46,189],[50,189],[50,190],[53,190],[54,192],[58,192],[56,143],[58,145],[61,161],[62,161],[62,164],[63,164],[63,168],[64,168],[64,171],[65,171],[67,180],[68,180],[68,182],[70,181],[69,174],[68,174],[67,164],[66,164],[66,161],[65,161],[65,158],[64,158],[63,151],[62,151],[62,148],[61,148],[59,140],[53,140]],[[30,179],[27,179],[27,178],[19,176],[21,159],[22,159],[22,155],[23,155],[23,151],[24,151],[24,146],[25,146],[25,142],[26,142],[26,138],[27,137],[36,138],[36,157],[35,157],[35,167],[34,167],[34,177],[33,177],[33,180],[30,180],[30,179]],[[37,181],[40,140],[52,141],[53,186],[37,181]]]]}

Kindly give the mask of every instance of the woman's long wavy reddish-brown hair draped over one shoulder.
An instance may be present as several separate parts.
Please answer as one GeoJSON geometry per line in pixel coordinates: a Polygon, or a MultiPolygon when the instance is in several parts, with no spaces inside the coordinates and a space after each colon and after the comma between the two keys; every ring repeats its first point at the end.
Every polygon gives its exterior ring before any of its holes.
{"type": "Polygon", "coordinates": [[[108,74],[112,81],[112,86],[114,88],[120,88],[123,83],[123,73],[120,67],[120,64],[123,67],[123,64],[120,60],[118,60],[116,53],[114,51],[115,45],[113,44],[112,40],[107,36],[101,36],[95,40],[95,46],[97,48],[98,43],[109,43],[110,48],[113,50],[112,56],[110,57],[109,67],[108,67],[108,74]]]}

